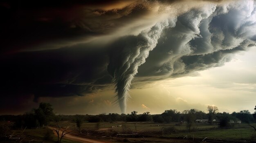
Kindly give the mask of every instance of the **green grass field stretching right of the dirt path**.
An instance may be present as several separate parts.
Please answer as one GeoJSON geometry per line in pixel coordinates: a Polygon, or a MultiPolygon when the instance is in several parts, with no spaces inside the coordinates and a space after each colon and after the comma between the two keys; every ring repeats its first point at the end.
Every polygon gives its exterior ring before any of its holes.
{"type": "MultiPolygon", "coordinates": [[[[75,123],[67,123],[72,128],[76,128],[75,123]]],[[[222,140],[222,141],[256,141],[256,132],[246,123],[236,124],[233,128],[222,129],[218,125],[209,124],[195,124],[193,129],[189,132],[186,124],[176,125],[177,123],[153,123],[153,122],[100,122],[100,123],[83,123],[82,129],[98,130],[101,128],[108,128],[108,130],[115,130],[116,132],[124,131],[124,127],[132,132],[143,133],[144,135],[155,134],[155,136],[164,136],[168,138],[183,139],[185,136],[188,139],[207,139],[222,140]],[[111,128],[112,126],[122,125],[121,127],[111,128]],[[162,130],[168,130],[168,133],[162,133],[162,130]]],[[[256,126],[256,123],[250,125],[256,126]]]]}

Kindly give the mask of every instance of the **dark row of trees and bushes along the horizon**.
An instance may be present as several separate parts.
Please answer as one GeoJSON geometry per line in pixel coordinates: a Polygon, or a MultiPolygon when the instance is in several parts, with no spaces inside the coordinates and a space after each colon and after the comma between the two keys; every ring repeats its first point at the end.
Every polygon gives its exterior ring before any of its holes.
{"type": "MultiPolygon", "coordinates": [[[[256,106],[254,108],[256,110],[256,106]]],[[[251,114],[249,110],[242,110],[240,112],[227,112],[220,113],[216,106],[207,106],[207,113],[197,109],[184,110],[183,112],[175,109],[165,110],[162,114],[150,114],[150,112],[144,112],[137,114],[137,111],[132,111],[130,114],[117,114],[117,113],[102,113],[98,115],[56,115],[53,112],[52,105],[49,103],[40,103],[37,109],[32,109],[30,112],[26,112],[23,115],[1,115],[0,120],[14,121],[14,126],[17,128],[27,127],[36,128],[47,125],[49,121],[72,121],[79,127],[83,122],[115,122],[115,121],[127,121],[127,122],[144,122],[154,121],[157,123],[170,123],[170,122],[186,122],[189,126],[192,126],[196,119],[208,119],[209,123],[218,121],[220,125],[227,126],[229,121],[233,120],[234,123],[242,121],[244,123],[250,123],[256,121],[256,111],[251,114]]]]}

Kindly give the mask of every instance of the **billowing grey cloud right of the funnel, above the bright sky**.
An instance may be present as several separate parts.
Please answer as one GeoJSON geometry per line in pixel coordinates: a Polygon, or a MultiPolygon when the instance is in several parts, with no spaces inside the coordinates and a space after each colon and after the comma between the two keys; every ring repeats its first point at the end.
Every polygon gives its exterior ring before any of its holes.
{"type": "Polygon", "coordinates": [[[213,6],[180,15],[174,28],[164,30],[159,44],[139,68],[137,80],[181,77],[229,62],[232,53],[255,44],[251,40],[255,31],[252,6],[242,2],[230,4],[229,9],[213,6]]]}

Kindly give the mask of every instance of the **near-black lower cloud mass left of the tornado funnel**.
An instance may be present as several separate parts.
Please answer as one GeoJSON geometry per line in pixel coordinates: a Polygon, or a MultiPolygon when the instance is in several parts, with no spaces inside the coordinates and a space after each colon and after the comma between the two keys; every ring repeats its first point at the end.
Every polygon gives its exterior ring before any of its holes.
{"type": "Polygon", "coordinates": [[[111,83],[102,49],[61,48],[22,52],[1,58],[4,96],[65,97],[99,90],[111,83]],[[100,51],[99,51],[100,50],[100,51]]]}

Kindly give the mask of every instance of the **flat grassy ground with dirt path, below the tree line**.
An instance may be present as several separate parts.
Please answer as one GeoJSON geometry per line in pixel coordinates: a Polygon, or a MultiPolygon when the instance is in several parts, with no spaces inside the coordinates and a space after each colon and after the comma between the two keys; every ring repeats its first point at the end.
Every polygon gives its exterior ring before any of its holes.
{"type": "MultiPolygon", "coordinates": [[[[6,136],[5,139],[2,137],[0,143],[54,143],[57,141],[57,137],[49,127],[54,128],[55,124],[55,122],[51,122],[49,126],[40,129],[10,130],[13,139],[9,136],[6,136]],[[45,135],[49,130],[49,140],[47,141],[45,135]],[[25,137],[24,141],[18,139],[21,139],[22,136],[25,137]]],[[[236,124],[230,129],[221,129],[214,124],[195,124],[192,132],[188,132],[185,124],[179,125],[179,123],[83,123],[81,132],[77,129],[76,123],[62,121],[61,125],[69,126],[69,130],[72,130],[64,137],[62,143],[249,143],[256,141],[256,131],[247,123],[236,124]]],[[[256,126],[256,123],[250,125],[256,126]]]]}

